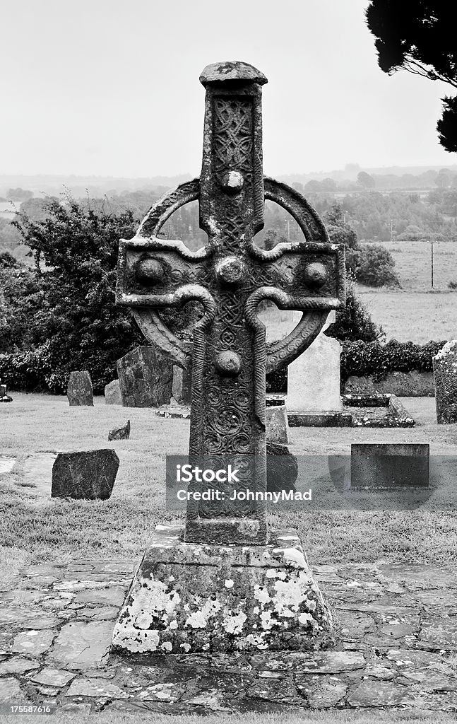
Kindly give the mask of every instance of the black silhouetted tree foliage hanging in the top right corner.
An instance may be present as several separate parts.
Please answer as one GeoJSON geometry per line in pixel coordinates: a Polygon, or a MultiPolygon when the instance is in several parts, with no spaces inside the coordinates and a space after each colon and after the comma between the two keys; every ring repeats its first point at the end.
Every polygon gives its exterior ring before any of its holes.
{"type": "MultiPolygon", "coordinates": [[[[445,0],[372,0],[367,25],[375,35],[380,69],[400,68],[457,88],[456,9],[445,0]]],[[[443,98],[440,144],[457,151],[457,96],[443,98]]]]}

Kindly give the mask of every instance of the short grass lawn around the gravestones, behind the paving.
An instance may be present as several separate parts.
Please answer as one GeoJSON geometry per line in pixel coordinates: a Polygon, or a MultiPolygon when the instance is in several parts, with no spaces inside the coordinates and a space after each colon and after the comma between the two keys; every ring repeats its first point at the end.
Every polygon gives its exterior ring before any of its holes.
{"type": "MultiPolygon", "coordinates": [[[[105,405],[103,397],[95,398],[93,408],[70,408],[66,397],[13,397],[13,403],[0,408],[0,454],[18,460],[14,472],[0,476],[4,575],[44,560],[131,556],[134,562],[156,523],[182,518],[166,510],[165,456],[186,454],[189,421],[159,418],[150,409],[105,405]],[[132,424],[131,439],[107,442],[108,430],[126,418],[132,424]],[[114,447],[120,458],[110,500],[46,500],[22,474],[33,452],[103,447],[114,447]]],[[[432,455],[456,455],[457,426],[435,424],[434,400],[403,401],[420,423],[415,429],[296,428],[291,449],[299,456],[349,455],[351,442],[430,442],[432,455]]],[[[334,510],[330,491],[329,510],[284,510],[270,515],[270,523],[298,529],[310,563],[456,562],[456,467],[445,473],[420,510],[334,510]]],[[[317,484],[325,493],[328,476],[317,484]]]]}

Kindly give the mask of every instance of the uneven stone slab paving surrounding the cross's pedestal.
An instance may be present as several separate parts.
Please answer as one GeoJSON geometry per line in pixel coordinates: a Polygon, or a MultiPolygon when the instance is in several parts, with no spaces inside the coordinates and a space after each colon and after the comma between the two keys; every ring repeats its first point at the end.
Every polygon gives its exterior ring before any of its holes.
{"type": "Polygon", "coordinates": [[[114,657],[131,560],[34,565],[0,592],[0,702],[69,712],[457,711],[456,568],[320,565],[336,646],[114,657]]]}

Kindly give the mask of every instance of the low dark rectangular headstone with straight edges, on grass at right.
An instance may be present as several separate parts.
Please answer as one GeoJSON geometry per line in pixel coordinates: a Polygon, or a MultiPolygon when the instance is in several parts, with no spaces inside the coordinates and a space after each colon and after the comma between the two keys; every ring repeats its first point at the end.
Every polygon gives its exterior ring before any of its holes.
{"type": "Polygon", "coordinates": [[[425,443],[351,445],[351,489],[428,487],[429,456],[425,443]]]}

